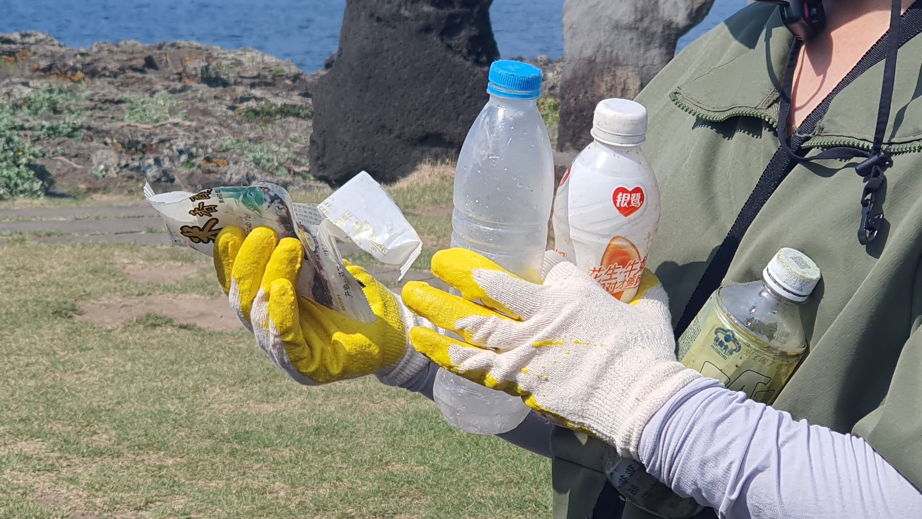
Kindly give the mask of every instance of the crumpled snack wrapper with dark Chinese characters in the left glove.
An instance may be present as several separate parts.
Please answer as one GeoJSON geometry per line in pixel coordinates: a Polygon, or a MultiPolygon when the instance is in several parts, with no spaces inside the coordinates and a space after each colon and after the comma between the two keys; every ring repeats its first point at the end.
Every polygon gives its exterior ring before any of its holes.
{"type": "MultiPolygon", "coordinates": [[[[373,181],[372,181],[373,182],[373,181]]],[[[232,225],[249,234],[256,227],[276,230],[279,240],[296,238],[304,247],[298,294],[362,323],[375,319],[359,281],[349,274],[337,249],[336,226],[309,204],[292,204],[273,183],[215,187],[199,193],[175,191],[144,195],[166,223],[173,243],[213,254],[218,233],[232,225]]]]}

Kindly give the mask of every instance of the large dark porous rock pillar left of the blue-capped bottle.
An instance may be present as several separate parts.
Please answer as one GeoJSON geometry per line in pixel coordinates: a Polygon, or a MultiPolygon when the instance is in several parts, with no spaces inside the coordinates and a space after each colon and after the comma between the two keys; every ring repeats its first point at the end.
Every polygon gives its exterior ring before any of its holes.
{"type": "Polygon", "coordinates": [[[312,89],[312,174],[393,181],[455,159],[499,57],[492,0],[348,0],[339,49],[312,89]]]}

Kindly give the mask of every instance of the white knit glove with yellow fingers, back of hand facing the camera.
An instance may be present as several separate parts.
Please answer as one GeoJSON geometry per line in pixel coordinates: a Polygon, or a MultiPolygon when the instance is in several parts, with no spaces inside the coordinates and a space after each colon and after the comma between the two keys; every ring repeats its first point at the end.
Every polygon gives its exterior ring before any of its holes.
{"type": "Polygon", "coordinates": [[[637,457],[646,422],[701,376],[675,358],[666,291],[649,271],[631,304],[553,252],[543,285],[463,249],[435,254],[432,273],[464,299],[410,282],[403,300],[466,342],[414,328],[415,348],[450,372],[522,396],[622,456],[637,457]]]}

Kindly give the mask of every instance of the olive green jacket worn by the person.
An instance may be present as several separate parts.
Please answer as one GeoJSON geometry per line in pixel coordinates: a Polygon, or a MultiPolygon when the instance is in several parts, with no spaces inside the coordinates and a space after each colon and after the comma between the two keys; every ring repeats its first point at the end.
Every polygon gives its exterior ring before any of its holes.
{"type": "MultiPolygon", "coordinates": [[[[693,42],[637,97],[649,111],[644,153],[662,200],[648,265],[667,289],[676,320],[779,147],[775,85],[792,41],[774,6],[753,4],[693,42]]],[[[867,248],[857,241],[862,182],[854,169],[837,160],[798,165],[753,221],[725,278],[759,279],[781,247],[820,265],[822,281],[803,308],[809,354],[774,407],[861,436],[916,486],[922,486],[920,56],[922,36],[899,52],[885,140],[896,155],[886,171],[879,238],[867,248]]],[[[881,62],[845,87],[804,146],[870,149],[882,75],[881,62]]],[[[552,450],[555,517],[590,516],[605,481],[598,442],[557,431],[552,450]]],[[[634,509],[629,516],[646,515],[634,509]]]]}

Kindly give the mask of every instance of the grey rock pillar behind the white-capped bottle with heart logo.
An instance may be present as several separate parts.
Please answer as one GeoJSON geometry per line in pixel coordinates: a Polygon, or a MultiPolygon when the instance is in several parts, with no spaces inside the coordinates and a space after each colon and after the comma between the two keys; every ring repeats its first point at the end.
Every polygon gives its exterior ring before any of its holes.
{"type": "Polygon", "coordinates": [[[714,0],[566,0],[557,147],[589,143],[598,101],[633,99],[714,0]]]}

